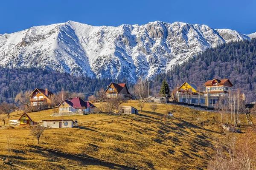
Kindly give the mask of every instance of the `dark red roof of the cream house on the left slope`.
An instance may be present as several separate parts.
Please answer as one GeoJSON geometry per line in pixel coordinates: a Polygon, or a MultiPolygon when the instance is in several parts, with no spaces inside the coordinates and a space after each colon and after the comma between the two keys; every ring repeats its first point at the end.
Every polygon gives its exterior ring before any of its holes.
{"type": "MultiPolygon", "coordinates": [[[[73,108],[89,108],[89,107],[92,107],[92,108],[96,108],[96,106],[94,106],[93,104],[91,104],[90,102],[85,102],[83,99],[81,99],[80,97],[75,97],[71,100],[64,100],[64,101],[61,101],[62,102],[66,102],[68,105],[70,105],[71,107],[73,108]]],[[[58,105],[58,107],[60,107],[61,103],[58,105]]]]}

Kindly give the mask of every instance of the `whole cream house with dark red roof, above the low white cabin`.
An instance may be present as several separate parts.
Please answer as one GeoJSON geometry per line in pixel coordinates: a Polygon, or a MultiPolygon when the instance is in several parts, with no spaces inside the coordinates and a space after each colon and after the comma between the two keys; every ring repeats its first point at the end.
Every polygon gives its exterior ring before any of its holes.
{"type": "Polygon", "coordinates": [[[96,108],[90,102],[85,102],[80,97],[63,100],[59,105],[59,115],[79,114],[85,115],[93,112],[96,108]]]}

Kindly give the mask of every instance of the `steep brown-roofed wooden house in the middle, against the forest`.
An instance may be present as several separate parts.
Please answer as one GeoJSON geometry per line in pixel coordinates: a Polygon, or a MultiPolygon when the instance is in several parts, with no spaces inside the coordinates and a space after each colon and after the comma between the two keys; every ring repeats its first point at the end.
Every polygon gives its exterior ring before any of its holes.
{"type": "Polygon", "coordinates": [[[129,94],[130,93],[125,83],[116,84],[114,82],[111,82],[111,84],[105,90],[106,98],[113,98],[117,96],[125,98],[128,97],[129,94]]]}

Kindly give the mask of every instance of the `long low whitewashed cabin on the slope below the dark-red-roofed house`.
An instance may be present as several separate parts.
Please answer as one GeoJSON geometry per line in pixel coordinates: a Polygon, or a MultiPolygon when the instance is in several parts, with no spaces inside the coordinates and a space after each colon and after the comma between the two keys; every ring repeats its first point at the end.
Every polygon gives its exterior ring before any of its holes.
{"type": "Polygon", "coordinates": [[[74,127],[75,122],[71,119],[62,119],[62,120],[43,120],[44,127],[48,128],[69,128],[74,127]]]}

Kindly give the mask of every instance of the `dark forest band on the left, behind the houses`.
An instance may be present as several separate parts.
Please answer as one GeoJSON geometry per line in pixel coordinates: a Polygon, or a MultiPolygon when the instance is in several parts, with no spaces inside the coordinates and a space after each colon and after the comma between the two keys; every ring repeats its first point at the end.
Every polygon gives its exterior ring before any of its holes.
{"type": "Polygon", "coordinates": [[[0,68],[0,102],[3,99],[14,99],[20,91],[32,91],[35,88],[48,88],[53,93],[64,91],[85,93],[106,89],[111,82],[132,84],[127,79],[96,79],[92,77],[75,77],[41,68],[0,68]]]}

